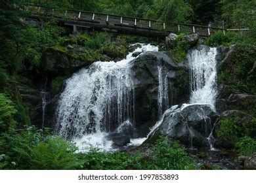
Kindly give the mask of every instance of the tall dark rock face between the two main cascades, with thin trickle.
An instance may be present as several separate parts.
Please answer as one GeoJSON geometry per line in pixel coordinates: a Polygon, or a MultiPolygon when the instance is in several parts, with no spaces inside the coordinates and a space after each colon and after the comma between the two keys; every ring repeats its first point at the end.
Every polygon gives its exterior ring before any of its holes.
{"type": "Polygon", "coordinates": [[[185,63],[178,65],[165,52],[146,52],[131,64],[135,88],[135,122],[143,137],[148,133],[144,129],[152,127],[169,105],[188,101],[188,69],[185,63]],[[158,96],[160,92],[166,94],[163,94],[161,101],[158,96]]]}

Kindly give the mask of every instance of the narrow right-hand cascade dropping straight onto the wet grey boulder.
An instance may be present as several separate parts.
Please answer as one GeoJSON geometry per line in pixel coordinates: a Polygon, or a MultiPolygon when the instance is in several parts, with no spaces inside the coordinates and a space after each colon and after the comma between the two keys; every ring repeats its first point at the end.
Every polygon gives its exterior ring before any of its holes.
{"type": "Polygon", "coordinates": [[[190,103],[209,104],[215,108],[217,95],[216,65],[217,48],[202,47],[188,54],[190,73],[190,103]]]}

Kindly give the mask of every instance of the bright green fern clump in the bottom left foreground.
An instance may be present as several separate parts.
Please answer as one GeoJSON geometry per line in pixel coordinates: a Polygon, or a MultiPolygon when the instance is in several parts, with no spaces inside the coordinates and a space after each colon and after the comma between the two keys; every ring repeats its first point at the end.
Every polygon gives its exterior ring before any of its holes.
{"type": "Polygon", "coordinates": [[[5,137],[8,143],[0,151],[5,154],[4,169],[77,169],[82,163],[77,161],[74,143],[50,137],[47,129],[27,126],[5,137]]]}

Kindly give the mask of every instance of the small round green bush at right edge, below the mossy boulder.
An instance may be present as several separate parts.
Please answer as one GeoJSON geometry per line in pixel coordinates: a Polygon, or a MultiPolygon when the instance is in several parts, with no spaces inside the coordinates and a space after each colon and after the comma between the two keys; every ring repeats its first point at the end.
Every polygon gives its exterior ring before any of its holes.
{"type": "Polygon", "coordinates": [[[256,141],[251,137],[242,137],[236,142],[236,149],[245,156],[251,156],[256,153],[256,141]]]}

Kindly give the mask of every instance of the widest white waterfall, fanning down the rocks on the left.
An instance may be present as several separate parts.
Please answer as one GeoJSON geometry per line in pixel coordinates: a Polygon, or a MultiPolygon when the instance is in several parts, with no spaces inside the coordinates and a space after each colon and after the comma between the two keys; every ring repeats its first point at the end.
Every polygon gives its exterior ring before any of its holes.
{"type": "MultiPolygon", "coordinates": [[[[146,51],[158,51],[158,47],[141,44],[134,52],[146,51]]],[[[110,149],[106,133],[126,120],[134,121],[133,59],[131,52],[121,61],[97,61],[66,80],[56,110],[56,129],[62,137],[74,138],[83,151],[97,144],[110,149]]]]}

